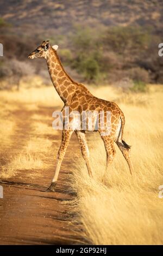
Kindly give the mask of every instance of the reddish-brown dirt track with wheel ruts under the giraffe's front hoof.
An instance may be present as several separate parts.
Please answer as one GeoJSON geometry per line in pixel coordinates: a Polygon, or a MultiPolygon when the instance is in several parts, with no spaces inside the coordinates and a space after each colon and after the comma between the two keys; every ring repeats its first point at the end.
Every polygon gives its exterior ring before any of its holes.
{"type": "MultiPolygon", "coordinates": [[[[33,136],[32,115],[36,112],[38,115],[51,117],[53,109],[40,106],[37,111],[31,111],[18,106],[18,110],[12,111],[11,116],[16,121],[16,128],[15,133],[11,135],[9,147],[2,147],[0,158],[3,165],[15,157],[33,136]]],[[[48,121],[48,126],[52,126],[51,120],[48,121]]],[[[37,135],[37,138],[39,136],[42,135],[37,135]]],[[[39,175],[34,177],[34,170],[18,170],[15,176],[1,179],[0,184],[4,190],[4,198],[0,199],[1,245],[84,243],[81,236],[82,227],[72,222],[74,216],[70,213],[70,202],[76,197],[72,192],[70,180],[73,169],[72,154],[74,150],[80,154],[78,144],[74,143],[77,141],[76,137],[72,136],[68,146],[56,192],[51,193],[46,192],[46,189],[54,174],[61,133],[53,135],[52,132],[45,136],[54,141],[52,151],[43,159],[49,166],[46,170],[40,169],[39,175]]]]}

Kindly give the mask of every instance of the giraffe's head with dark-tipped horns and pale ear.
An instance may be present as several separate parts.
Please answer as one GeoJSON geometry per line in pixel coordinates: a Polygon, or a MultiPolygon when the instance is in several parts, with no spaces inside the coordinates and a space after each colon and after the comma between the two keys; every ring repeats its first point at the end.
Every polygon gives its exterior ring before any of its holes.
{"type": "Polygon", "coordinates": [[[55,51],[58,49],[58,45],[51,45],[49,44],[49,40],[43,41],[41,45],[39,45],[34,51],[32,51],[28,58],[47,58],[49,53],[49,49],[53,48],[55,51]]]}

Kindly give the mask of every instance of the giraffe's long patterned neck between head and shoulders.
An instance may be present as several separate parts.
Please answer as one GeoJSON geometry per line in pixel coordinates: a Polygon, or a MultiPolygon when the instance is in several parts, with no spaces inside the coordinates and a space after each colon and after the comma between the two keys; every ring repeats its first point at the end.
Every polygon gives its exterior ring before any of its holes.
{"type": "Polygon", "coordinates": [[[57,52],[53,50],[52,47],[49,49],[46,61],[55,90],[58,92],[64,103],[70,103],[76,90],[77,83],[65,72],[57,52]]]}

